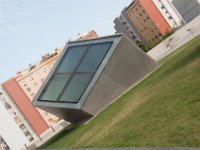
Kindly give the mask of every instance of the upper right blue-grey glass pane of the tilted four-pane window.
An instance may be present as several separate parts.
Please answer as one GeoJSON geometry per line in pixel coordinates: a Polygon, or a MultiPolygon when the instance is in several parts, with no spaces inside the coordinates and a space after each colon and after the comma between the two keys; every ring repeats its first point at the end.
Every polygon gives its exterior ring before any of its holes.
{"type": "Polygon", "coordinates": [[[77,72],[95,72],[111,46],[109,43],[91,45],[77,72]]]}

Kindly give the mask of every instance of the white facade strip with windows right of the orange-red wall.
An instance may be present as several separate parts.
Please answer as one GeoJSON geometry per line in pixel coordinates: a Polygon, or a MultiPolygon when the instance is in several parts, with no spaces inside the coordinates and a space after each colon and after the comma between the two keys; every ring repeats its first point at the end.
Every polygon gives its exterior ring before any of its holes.
{"type": "Polygon", "coordinates": [[[153,3],[156,5],[171,28],[177,28],[182,25],[183,19],[174,8],[171,0],[153,0],[153,3]]]}

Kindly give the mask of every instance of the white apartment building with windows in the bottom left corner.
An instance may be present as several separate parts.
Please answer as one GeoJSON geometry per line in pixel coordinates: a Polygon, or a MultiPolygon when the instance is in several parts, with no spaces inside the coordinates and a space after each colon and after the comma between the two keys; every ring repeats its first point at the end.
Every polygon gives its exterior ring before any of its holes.
{"type": "Polygon", "coordinates": [[[18,150],[37,138],[14,101],[0,85],[0,150],[18,150]]]}

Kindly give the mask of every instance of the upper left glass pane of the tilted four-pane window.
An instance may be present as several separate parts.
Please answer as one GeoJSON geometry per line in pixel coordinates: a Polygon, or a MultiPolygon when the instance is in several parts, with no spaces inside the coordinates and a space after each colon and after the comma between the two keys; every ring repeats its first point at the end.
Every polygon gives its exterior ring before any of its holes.
{"type": "Polygon", "coordinates": [[[77,67],[81,57],[85,53],[86,46],[69,47],[69,52],[65,53],[60,64],[58,65],[57,72],[71,73],[77,67]]]}

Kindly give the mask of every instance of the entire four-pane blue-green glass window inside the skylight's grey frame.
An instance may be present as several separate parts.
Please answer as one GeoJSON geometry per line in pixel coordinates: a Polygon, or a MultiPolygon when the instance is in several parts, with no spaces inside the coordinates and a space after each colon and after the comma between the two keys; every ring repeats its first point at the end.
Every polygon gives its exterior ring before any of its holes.
{"type": "Polygon", "coordinates": [[[112,43],[69,46],[38,100],[78,103],[112,43]]]}

